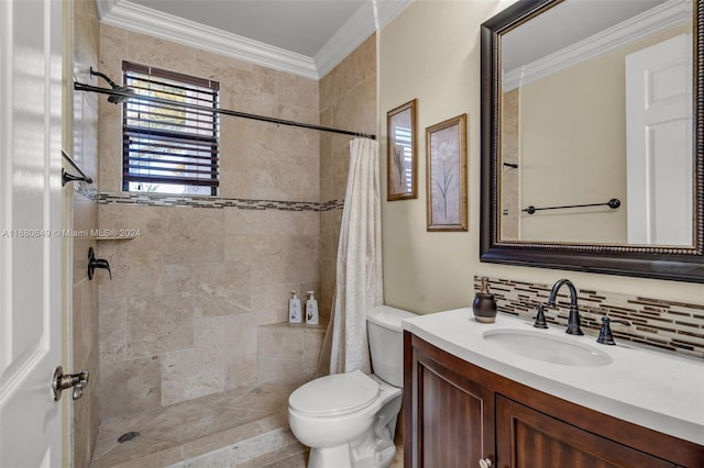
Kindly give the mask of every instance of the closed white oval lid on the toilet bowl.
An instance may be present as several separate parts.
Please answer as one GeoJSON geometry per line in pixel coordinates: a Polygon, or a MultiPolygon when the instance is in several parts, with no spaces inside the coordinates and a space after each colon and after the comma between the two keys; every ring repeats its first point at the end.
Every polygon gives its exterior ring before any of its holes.
{"type": "Polygon", "coordinates": [[[333,416],[369,406],[378,393],[378,382],[355,370],[306,383],[290,394],[288,404],[301,413],[333,416]]]}

